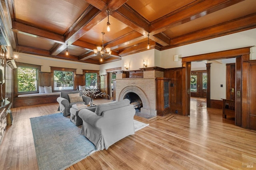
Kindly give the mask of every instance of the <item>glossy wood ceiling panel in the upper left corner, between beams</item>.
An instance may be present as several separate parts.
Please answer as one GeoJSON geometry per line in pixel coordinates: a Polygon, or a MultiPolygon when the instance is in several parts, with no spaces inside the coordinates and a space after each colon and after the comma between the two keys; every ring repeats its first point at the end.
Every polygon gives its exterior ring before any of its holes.
{"type": "Polygon", "coordinates": [[[14,0],[16,20],[64,34],[90,5],[84,0],[14,0]]]}

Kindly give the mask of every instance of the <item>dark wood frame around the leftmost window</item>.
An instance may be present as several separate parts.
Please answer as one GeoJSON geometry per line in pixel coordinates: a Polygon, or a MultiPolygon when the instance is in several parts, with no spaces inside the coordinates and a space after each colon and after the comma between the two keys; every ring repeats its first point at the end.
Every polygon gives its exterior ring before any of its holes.
{"type": "Polygon", "coordinates": [[[31,68],[31,69],[36,69],[37,70],[37,81],[36,81],[36,91],[30,91],[30,92],[18,92],[18,69],[14,70],[14,93],[15,94],[33,94],[33,93],[38,93],[39,92],[39,86],[41,85],[41,66],[36,65],[36,64],[27,64],[27,63],[19,63],[16,62],[17,68],[18,67],[23,67],[23,68],[31,68]]]}

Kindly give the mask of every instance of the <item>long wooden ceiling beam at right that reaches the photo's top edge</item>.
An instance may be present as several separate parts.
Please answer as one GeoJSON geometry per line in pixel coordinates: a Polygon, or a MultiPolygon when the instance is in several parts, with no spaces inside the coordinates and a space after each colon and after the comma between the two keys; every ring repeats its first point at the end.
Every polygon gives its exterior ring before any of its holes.
{"type": "Polygon", "coordinates": [[[162,18],[152,21],[149,30],[151,34],[155,35],[157,33],[164,32],[171,27],[195,20],[242,1],[244,0],[218,0],[211,1],[211,3],[209,3],[206,0],[200,0],[192,4],[188,4],[187,8],[183,8],[178,12],[174,11],[162,18]]]}

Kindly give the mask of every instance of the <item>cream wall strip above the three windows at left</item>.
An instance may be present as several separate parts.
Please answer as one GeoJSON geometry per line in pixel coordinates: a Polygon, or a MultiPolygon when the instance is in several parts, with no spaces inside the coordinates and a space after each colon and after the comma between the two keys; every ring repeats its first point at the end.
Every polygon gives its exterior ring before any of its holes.
{"type": "Polygon", "coordinates": [[[42,72],[51,72],[50,66],[74,68],[76,74],[83,74],[83,70],[100,70],[100,66],[97,64],[80,63],[75,61],[67,61],[60,59],[53,59],[50,57],[42,57],[37,55],[29,55],[24,53],[18,53],[19,57],[16,59],[20,63],[41,65],[42,72]]]}

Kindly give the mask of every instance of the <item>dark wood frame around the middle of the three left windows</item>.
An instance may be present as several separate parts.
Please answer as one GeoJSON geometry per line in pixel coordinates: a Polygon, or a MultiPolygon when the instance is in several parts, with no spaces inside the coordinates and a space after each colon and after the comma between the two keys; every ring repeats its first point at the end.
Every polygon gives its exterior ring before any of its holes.
{"type": "Polygon", "coordinates": [[[51,86],[52,86],[52,91],[53,92],[60,92],[60,91],[74,91],[76,90],[76,69],[74,68],[62,68],[62,67],[50,67],[51,68],[51,86]],[[67,71],[67,72],[73,72],[73,78],[74,78],[74,83],[73,83],[73,89],[68,89],[68,90],[54,90],[54,71],[67,71]]]}

